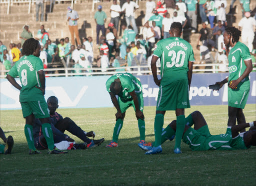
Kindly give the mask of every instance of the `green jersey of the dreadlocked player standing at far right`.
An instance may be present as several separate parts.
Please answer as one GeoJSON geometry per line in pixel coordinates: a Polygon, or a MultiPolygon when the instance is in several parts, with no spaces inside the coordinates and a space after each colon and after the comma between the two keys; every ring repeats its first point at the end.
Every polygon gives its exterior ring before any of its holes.
{"type": "MultiPolygon", "coordinates": [[[[248,47],[241,43],[237,42],[233,48],[229,51],[228,54],[228,81],[238,79],[244,72],[246,66],[244,61],[250,60],[250,52],[248,47]]],[[[242,90],[250,89],[249,76],[246,76],[238,85],[237,88],[242,90]]]]}

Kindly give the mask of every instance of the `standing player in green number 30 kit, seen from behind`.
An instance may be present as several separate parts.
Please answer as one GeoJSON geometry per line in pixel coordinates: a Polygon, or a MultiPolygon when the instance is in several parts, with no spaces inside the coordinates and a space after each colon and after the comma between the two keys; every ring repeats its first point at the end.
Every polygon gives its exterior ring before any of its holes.
{"type": "Polygon", "coordinates": [[[190,108],[188,91],[192,78],[194,61],[192,46],[180,38],[182,24],[173,22],[169,30],[170,37],[160,40],[155,46],[151,60],[154,82],[159,86],[154,119],[154,147],[145,154],[162,152],[161,132],[166,110],[175,110],[177,131],[174,153],[179,154],[182,133],[185,127],[184,109],[190,108]],[[160,58],[161,79],[156,74],[156,61],[160,58]]]}

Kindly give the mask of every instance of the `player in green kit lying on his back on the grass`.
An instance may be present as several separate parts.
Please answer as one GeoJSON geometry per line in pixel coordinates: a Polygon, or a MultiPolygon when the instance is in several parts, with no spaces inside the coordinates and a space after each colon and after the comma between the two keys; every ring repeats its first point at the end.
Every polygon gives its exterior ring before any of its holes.
{"type": "MultiPolygon", "coordinates": [[[[199,111],[191,113],[185,121],[182,140],[192,151],[238,150],[256,146],[256,121],[227,127],[226,133],[220,135],[210,134],[207,123],[199,111]],[[239,133],[247,127],[250,127],[247,132],[239,133]]],[[[168,139],[172,140],[175,131],[176,121],[174,120],[162,131],[161,143],[168,139]]],[[[150,151],[152,144],[147,143],[139,147],[144,151],[150,151]]]]}

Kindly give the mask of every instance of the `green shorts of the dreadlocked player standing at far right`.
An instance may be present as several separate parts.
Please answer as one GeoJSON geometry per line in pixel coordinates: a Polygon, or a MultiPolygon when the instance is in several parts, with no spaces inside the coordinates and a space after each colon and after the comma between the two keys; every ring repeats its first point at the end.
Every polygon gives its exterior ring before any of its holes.
{"type": "Polygon", "coordinates": [[[228,106],[244,109],[249,90],[232,90],[228,87],[228,106]]]}

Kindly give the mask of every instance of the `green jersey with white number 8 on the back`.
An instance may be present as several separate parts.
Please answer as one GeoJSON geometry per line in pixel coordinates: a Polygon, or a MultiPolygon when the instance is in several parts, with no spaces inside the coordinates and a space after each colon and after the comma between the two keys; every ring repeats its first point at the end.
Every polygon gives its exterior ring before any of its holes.
{"type": "Polygon", "coordinates": [[[43,64],[39,57],[34,55],[23,56],[10,69],[8,74],[15,78],[19,76],[21,82],[21,90],[19,94],[19,102],[37,101],[44,96],[42,92],[35,88],[41,87],[38,77],[38,71],[43,70],[43,64]]]}

